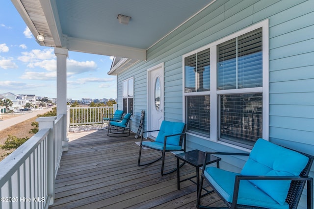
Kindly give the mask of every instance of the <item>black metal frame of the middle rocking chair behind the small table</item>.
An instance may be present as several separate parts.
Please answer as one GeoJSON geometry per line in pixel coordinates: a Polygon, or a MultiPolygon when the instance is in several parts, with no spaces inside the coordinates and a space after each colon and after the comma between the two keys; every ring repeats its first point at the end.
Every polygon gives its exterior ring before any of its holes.
{"type": "MultiPolygon", "coordinates": [[[[142,132],[142,135],[141,135],[141,143],[140,143],[140,146],[139,146],[139,154],[138,154],[137,166],[143,166],[143,165],[152,164],[152,163],[155,163],[155,162],[157,162],[158,160],[162,159],[160,175],[163,176],[163,175],[166,175],[166,174],[169,174],[169,173],[173,173],[173,172],[175,172],[175,171],[177,170],[177,167],[176,167],[175,169],[170,170],[170,171],[168,171],[168,172],[163,172],[163,170],[164,170],[164,162],[165,162],[165,154],[166,154],[166,152],[174,152],[174,151],[184,151],[184,152],[185,152],[185,145],[186,145],[186,139],[185,139],[185,138],[186,138],[186,134],[185,134],[185,125],[184,125],[184,127],[183,127],[183,132],[182,132],[181,134],[174,134],[174,135],[165,136],[165,139],[164,139],[164,142],[163,142],[163,150],[155,149],[155,148],[152,148],[152,147],[150,147],[150,146],[142,145],[144,133],[155,132],[155,131],[159,131],[159,130],[143,131],[143,132],[142,132]],[[167,138],[168,138],[168,137],[173,137],[173,136],[178,136],[178,135],[180,135],[180,142],[179,142],[179,145],[181,146],[181,150],[172,150],[172,149],[170,150],[170,149],[166,149],[167,138]],[[182,149],[182,144],[183,144],[183,149],[182,149]],[[141,153],[142,153],[142,147],[147,147],[147,148],[154,149],[154,150],[157,150],[157,151],[161,152],[161,157],[159,157],[157,160],[153,160],[153,161],[148,162],[148,163],[140,164],[141,153]]],[[[180,164],[179,167],[182,167],[184,164],[185,164],[185,162],[183,162],[182,164],[180,164]]]]}

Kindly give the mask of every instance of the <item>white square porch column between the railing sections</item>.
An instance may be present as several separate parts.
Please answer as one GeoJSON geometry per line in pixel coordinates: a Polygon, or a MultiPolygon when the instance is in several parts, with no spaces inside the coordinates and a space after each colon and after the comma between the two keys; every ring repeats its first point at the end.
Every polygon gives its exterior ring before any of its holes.
{"type": "Polygon", "coordinates": [[[69,148],[67,139],[67,57],[69,50],[67,48],[54,48],[54,54],[57,57],[57,116],[63,114],[63,151],[69,148]]]}

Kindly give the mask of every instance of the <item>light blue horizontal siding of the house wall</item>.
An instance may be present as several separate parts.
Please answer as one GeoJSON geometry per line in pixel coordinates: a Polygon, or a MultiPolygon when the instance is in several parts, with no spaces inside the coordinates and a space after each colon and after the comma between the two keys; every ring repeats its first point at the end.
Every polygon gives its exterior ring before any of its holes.
{"type": "MultiPolygon", "coordinates": [[[[164,62],[164,119],[183,120],[182,55],[252,24],[269,20],[269,140],[314,155],[314,0],[216,0],[208,8],[147,51],[139,62],[118,75],[134,76],[137,130],[141,110],[147,111],[146,70],[164,62]]],[[[121,107],[120,106],[120,107],[121,107]]],[[[122,108],[122,107],[121,107],[122,108]]],[[[146,117],[145,117],[146,119],[146,117]]],[[[146,129],[145,121],[144,129],[146,129]]],[[[239,151],[234,147],[187,136],[188,149],[239,151]]],[[[222,167],[239,171],[245,158],[224,159],[222,167]]],[[[312,166],[310,176],[314,176],[312,166]]],[[[306,208],[306,193],[299,208],[306,208]]]]}

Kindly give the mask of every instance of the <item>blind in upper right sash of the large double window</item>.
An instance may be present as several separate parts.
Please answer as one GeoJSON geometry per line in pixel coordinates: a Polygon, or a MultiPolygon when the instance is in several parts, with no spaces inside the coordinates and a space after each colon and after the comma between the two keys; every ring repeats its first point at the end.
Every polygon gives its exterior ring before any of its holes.
{"type": "Polygon", "coordinates": [[[262,28],[217,46],[217,90],[262,86],[262,28]]]}

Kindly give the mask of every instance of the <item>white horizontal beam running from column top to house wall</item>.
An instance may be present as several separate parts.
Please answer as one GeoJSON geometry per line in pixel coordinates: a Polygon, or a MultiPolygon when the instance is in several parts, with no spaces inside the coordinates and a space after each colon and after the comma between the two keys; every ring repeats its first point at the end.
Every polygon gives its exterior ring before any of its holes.
{"type": "Polygon", "coordinates": [[[67,37],[67,48],[70,51],[101,54],[114,57],[125,57],[136,60],[146,60],[146,49],[129,46],[113,45],[73,37],[67,37]]]}

